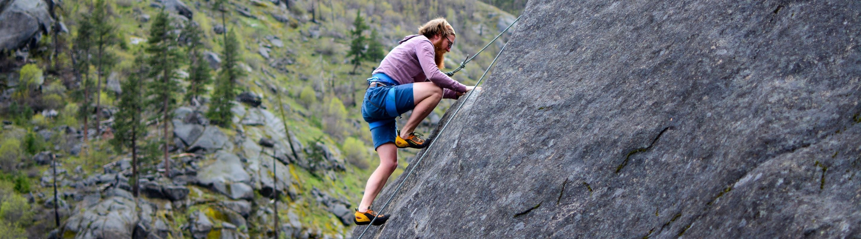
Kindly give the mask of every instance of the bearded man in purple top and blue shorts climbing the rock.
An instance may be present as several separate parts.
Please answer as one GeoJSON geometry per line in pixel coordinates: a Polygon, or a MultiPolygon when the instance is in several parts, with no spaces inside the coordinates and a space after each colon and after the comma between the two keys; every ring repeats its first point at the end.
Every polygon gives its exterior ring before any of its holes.
{"type": "Polygon", "coordinates": [[[481,89],[458,83],[440,71],[443,55],[455,45],[455,29],[444,18],[424,23],[418,34],[406,36],[399,44],[368,79],[362,101],[362,117],[370,125],[380,166],[368,179],[362,202],[356,208],[355,221],[360,225],[370,224],[371,220],[374,225],[386,223],[388,216],[377,215],[370,206],[398,167],[398,148],[421,149],[430,143],[414,132],[418,123],[431,114],[441,99],[457,99],[470,90],[481,89]],[[406,126],[396,130],[394,118],[410,110],[406,126]]]}

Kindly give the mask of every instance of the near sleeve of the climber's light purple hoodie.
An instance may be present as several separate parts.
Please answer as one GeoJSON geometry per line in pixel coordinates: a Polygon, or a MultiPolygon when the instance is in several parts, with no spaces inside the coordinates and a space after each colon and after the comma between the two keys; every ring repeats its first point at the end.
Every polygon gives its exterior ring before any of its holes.
{"type": "Polygon", "coordinates": [[[437,68],[437,63],[434,61],[433,44],[430,41],[422,40],[416,46],[416,56],[418,57],[418,64],[421,64],[422,71],[424,71],[424,76],[432,83],[436,83],[437,86],[443,88],[443,98],[457,99],[455,92],[463,93],[467,91],[466,85],[446,76],[443,71],[437,68]]]}

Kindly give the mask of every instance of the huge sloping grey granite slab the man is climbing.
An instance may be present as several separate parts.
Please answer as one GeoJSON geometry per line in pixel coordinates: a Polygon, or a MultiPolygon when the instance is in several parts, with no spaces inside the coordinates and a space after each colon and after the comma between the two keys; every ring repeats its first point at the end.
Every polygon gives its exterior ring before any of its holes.
{"type": "Polygon", "coordinates": [[[530,1],[365,238],[859,236],[858,9],[530,1]]]}

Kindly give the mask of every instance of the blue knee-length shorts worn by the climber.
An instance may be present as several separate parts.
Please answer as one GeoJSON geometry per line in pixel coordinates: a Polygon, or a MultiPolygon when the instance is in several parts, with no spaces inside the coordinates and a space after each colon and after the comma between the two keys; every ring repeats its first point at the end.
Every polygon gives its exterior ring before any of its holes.
{"type": "Polygon", "coordinates": [[[378,86],[365,91],[362,101],[362,118],[371,124],[371,137],[374,138],[374,150],[382,144],[394,143],[397,134],[394,118],[387,112],[387,96],[394,94],[394,109],[397,113],[406,113],[416,107],[412,101],[412,83],[397,86],[378,86]],[[391,90],[390,90],[391,89],[391,90]],[[374,122],[381,122],[375,125],[374,122]]]}

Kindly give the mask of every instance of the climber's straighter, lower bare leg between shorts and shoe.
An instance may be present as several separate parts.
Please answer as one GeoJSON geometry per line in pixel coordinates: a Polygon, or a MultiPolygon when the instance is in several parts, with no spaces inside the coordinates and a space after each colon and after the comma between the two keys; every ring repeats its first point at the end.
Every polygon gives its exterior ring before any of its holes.
{"type": "Polygon", "coordinates": [[[388,176],[398,168],[398,147],[394,143],[382,144],[376,150],[380,155],[380,166],[374,170],[374,174],[371,174],[368,184],[365,185],[365,194],[362,195],[362,203],[358,208],[360,212],[368,211],[368,207],[374,203],[382,187],[386,186],[388,176]]]}

